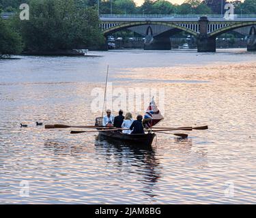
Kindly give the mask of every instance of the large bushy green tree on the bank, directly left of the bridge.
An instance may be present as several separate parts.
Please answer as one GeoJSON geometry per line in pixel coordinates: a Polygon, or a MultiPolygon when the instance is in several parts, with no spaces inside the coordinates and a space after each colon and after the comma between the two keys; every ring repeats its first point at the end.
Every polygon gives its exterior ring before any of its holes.
{"type": "Polygon", "coordinates": [[[31,0],[30,19],[18,21],[27,50],[58,50],[103,43],[98,13],[74,0],[31,0]]]}

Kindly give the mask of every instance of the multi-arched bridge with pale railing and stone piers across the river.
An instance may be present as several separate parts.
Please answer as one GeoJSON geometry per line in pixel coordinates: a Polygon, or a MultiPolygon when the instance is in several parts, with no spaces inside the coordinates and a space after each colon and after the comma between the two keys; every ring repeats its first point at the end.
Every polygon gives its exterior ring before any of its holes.
{"type": "Polygon", "coordinates": [[[169,37],[185,31],[197,39],[198,52],[215,52],[216,37],[229,31],[248,35],[248,50],[256,50],[256,15],[100,15],[100,28],[105,36],[130,29],[145,36],[145,49],[169,50],[169,37]]]}

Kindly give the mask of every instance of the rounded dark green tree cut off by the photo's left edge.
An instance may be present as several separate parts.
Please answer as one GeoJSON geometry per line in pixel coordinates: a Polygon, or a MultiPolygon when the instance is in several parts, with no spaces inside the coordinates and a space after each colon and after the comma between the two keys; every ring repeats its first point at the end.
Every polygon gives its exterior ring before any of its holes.
{"type": "Polygon", "coordinates": [[[10,26],[9,20],[0,18],[0,58],[19,54],[22,50],[20,35],[10,26]]]}

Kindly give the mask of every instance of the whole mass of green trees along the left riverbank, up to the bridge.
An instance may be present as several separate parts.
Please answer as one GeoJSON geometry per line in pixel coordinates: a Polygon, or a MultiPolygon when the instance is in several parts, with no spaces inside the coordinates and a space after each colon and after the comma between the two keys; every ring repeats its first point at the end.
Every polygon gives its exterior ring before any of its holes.
{"type": "MultiPolygon", "coordinates": [[[[19,18],[19,0],[0,0],[2,11],[17,12],[0,18],[0,56],[8,57],[21,51],[42,52],[99,47],[104,44],[98,10],[78,0],[28,0],[29,20],[19,18]]],[[[23,0],[22,3],[25,1],[23,0]]]]}

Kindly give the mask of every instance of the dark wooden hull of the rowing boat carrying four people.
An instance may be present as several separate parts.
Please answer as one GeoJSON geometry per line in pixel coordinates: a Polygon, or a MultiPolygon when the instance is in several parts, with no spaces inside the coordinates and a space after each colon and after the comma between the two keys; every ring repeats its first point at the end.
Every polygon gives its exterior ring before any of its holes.
{"type": "Polygon", "coordinates": [[[122,142],[129,142],[136,146],[152,146],[154,137],[153,134],[123,134],[119,131],[100,131],[99,136],[119,140],[122,142]]]}

